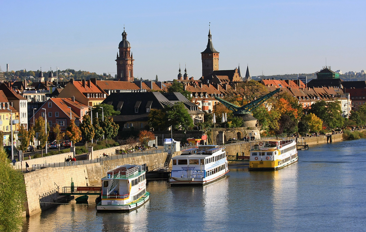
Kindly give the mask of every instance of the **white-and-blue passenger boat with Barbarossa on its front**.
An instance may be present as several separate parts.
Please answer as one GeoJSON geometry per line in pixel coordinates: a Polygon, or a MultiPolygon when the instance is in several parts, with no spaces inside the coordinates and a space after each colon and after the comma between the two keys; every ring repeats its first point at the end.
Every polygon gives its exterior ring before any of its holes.
{"type": "Polygon", "coordinates": [[[208,184],[229,172],[225,148],[202,145],[172,158],[170,184],[208,184]]]}

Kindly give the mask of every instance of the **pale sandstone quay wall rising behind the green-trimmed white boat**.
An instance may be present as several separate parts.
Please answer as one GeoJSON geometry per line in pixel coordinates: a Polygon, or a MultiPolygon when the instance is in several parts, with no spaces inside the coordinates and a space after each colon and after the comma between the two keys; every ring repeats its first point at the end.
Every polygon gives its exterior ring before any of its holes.
{"type": "MultiPolygon", "coordinates": [[[[177,154],[180,152],[177,152],[177,154]]],[[[177,155],[174,154],[173,156],[177,155]]],[[[67,156],[67,155],[66,155],[67,156]]],[[[147,164],[147,167],[160,165],[165,162],[167,153],[135,156],[123,159],[113,159],[100,163],[76,165],[66,167],[46,167],[29,173],[24,173],[27,202],[25,203],[26,215],[38,213],[49,207],[55,206],[60,200],[59,192],[62,187],[71,186],[100,186],[101,178],[106,171],[118,165],[135,163],[147,164]]]]}

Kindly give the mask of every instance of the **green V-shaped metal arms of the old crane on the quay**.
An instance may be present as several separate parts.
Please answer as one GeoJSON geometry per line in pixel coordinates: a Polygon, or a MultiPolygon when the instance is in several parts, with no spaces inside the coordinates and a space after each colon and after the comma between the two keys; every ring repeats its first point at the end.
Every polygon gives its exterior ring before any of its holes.
{"type": "Polygon", "coordinates": [[[258,99],[242,106],[236,106],[235,104],[232,104],[228,101],[225,101],[224,99],[220,98],[220,97],[216,97],[215,98],[223,103],[226,107],[228,107],[229,110],[233,111],[234,114],[250,114],[251,111],[253,111],[255,108],[257,108],[258,106],[260,106],[262,103],[264,103],[266,100],[268,100],[270,97],[272,97],[273,95],[275,95],[276,93],[280,92],[281,89],[278,88],[275,91],[272,91],[270,93],[267,93],[264,96],[259,97],[258,99]]]}

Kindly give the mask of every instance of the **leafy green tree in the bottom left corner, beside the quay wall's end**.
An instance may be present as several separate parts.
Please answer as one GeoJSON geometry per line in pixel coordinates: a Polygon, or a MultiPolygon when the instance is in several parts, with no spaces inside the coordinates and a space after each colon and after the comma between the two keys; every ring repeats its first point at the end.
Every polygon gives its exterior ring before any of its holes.
{"type": "Polygon", "coordinates": [[[26,200],[24,177],[11,167],[3,143],[0,144],[0,180],[0,231],[19,231],[26,200]]]}

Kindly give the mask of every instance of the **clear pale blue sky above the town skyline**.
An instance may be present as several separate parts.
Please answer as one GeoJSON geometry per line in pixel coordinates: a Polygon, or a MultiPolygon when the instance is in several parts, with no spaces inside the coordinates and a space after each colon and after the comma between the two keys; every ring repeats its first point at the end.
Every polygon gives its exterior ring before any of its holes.
{"type": "Polygon", "coordinates": [[[366,1],[0,1],[0,67],[115,75],[123,27],[134,76],[202,76],[209,23],[219,69],[251,76],[366,69],[366,1]],[[326,60],[326,62],[325,62],[326,60]]]}

